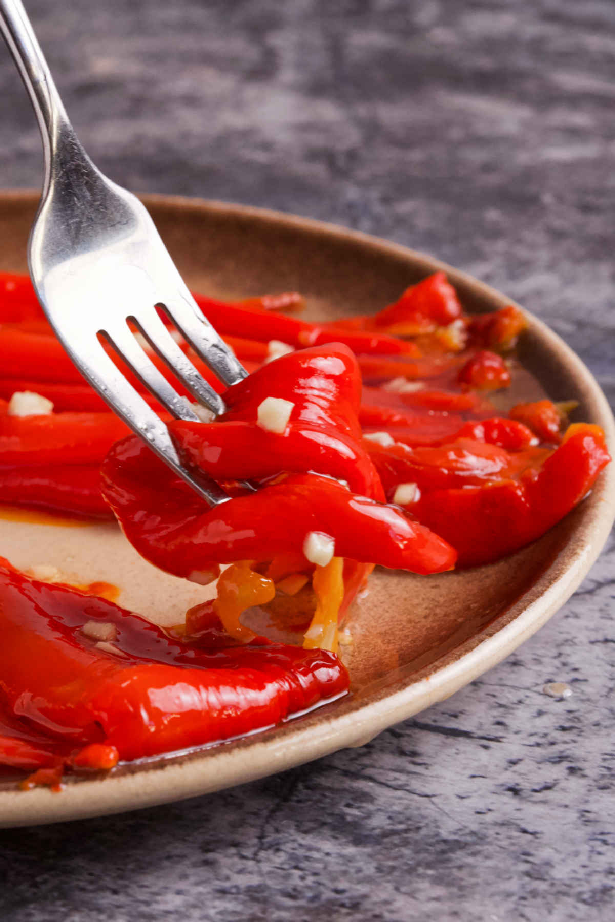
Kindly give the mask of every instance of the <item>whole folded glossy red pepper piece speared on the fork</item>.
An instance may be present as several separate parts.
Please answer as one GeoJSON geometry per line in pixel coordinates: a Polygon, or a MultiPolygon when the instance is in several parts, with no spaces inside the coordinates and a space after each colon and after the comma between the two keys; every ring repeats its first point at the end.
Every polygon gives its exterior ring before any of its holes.
{"type": "Polygon", "coordinates": [[[252,459],[245,453],[231,476],[241,471],[261,479],[254,494],[209,509],[136,438],[115,445],[102,466],[104,496],[126,537],[148,560],[189,576],[209,562],[272,561],[282,554],[301,559],[306,536],[318,531],[334,538],[338,557],[352,561],[416,573],[454,565],[455,553],[446,542],[399,510],[374,502],[373,497],[383,497],[382,487],[361,445],[361,377],[347,347],[333,344],[283,356],[233,385],[225,401],[228,411],[220,422],[202,424],[205,450],[198,445],[198,426],[176,422],[171,431],[193,462],[217,474],[223,473],[219,460],[225,452],[230,455],[238,433],[251,433],[249,444],[264,454],[252,459]],[[269,396],[293,403],[282,434],[259,431],[258,408],[269,396]],[[310,436],[320,442],[301,462],[310,436]],[[287,465],[300,470],[289,475],[287,465]],[[332,479],[340,475],[348,475],[360,494],[332,479]]]}

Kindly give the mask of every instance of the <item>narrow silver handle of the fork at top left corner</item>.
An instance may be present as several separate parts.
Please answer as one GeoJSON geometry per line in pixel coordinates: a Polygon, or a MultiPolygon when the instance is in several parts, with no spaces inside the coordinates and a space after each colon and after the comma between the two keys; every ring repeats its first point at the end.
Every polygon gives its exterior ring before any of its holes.
{"type": "Polygon", "coordinates": [[[78,160],[86,157],[68,120],[53,77],[21,0],[0,0],[0,31],[28,90],[41,129],[45,162],[43,197],[51,180],[53,160],[60,148],[72,148],[78,160]]]}

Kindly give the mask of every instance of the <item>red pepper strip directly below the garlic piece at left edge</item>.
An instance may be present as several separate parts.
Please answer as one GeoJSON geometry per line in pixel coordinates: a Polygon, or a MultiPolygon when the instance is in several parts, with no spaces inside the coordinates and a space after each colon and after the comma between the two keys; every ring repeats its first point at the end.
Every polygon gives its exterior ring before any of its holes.
{"type": "Polygon", "coordinates": [[[128,427],[114,413],[9,416],[0,402],[0,464],[100,464],[128,427]]]}

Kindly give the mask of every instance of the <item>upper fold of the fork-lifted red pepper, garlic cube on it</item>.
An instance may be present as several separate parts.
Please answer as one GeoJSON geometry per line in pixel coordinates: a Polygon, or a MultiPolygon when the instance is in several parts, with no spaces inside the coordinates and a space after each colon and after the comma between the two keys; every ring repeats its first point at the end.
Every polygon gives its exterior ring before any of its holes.
{"type": "Polygon", "coordinates": [[[217,479],[313,471],[346,480],[362,496],[384,499],[361,446],[361,374],[347,347],[334,343],[283,356],[235,384],[224,398],[228,410],[214,423],[169,424],[191,464],[217,479]],[[281,434],[257,424],[258,407],[269,396],[293,404],[281,434]]]}

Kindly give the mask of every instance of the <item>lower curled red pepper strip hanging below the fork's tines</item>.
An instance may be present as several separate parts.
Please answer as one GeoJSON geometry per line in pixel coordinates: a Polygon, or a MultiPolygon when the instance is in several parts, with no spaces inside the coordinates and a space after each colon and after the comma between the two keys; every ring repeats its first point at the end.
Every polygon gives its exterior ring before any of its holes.
{"type": "Polygon", "coordinates": [[[395,508],[315,474],[293,475],[209,509],[139,439],[129,437],[113,446],[101,477],[103,496],[126,538],[155,566],[177,576],[209,562],[301,553],[311,531],[333,538],[337,557],[415,573],[449,570],[455,563],[445,541],[395,508]]]}

